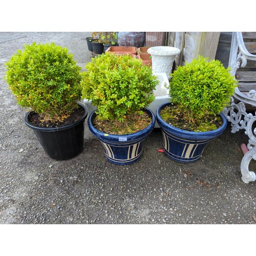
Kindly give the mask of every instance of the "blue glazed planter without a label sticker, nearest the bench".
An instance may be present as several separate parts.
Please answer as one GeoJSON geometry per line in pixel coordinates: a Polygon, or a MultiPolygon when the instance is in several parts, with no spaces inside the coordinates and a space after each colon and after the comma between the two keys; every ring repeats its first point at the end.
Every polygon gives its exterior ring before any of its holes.
{"type": "Polygon", "coordinates": [[[181,163],[193,163],[200,159],[207,143],[221,135],[227,126],[227,120],[220,113],[222,126],[210,132],[188,132],[166,123],[160,116],[160,110],[170,103],[162,104],[156,112],[156,119],[163,135],[163,150],[165,155],[181,163]]]}

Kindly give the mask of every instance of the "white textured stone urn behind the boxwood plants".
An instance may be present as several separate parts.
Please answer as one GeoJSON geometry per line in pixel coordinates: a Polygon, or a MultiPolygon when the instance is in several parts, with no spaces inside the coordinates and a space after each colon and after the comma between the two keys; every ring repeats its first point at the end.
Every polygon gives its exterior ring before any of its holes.
{"type": "Polygon", "coordinates": [[[165,73],[170,79],[175,56],[180,53],[180,49],[170,46],[154,46],[147,49],[152,58],[152,72],[165,73]]]}

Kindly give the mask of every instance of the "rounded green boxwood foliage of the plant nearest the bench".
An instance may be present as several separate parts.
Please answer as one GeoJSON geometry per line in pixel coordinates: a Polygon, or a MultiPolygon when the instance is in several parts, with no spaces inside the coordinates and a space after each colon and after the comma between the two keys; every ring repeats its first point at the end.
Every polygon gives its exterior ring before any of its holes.
{"type": "Polygon", "coordinates": [[[190,122],[217,116],[230,102],[237,81],[219,60],[199,56],[172,74],[169,89],[172,102],[190,122]]]}

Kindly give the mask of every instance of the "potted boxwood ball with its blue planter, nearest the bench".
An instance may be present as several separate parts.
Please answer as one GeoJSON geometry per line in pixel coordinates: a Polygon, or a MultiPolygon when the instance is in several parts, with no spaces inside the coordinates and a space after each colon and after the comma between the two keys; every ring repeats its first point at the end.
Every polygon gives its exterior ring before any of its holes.
{"type": "Polygon", "coordinates": [[[221,112],[236,86],[236,79],[219,60],[199,56],[174,71],[170,102],[160,105],[156,113],[167,157],[183,163],[200,159],[206,144],[226,128],[221,112]]]}

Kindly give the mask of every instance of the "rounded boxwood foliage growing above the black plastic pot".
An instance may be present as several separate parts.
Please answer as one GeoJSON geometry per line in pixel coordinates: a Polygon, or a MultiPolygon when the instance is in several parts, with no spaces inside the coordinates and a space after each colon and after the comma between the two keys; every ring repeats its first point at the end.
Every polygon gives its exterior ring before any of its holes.
{"type": "Polygon", "coordinates": [[[5,79],[17,103],[53,120],[63,119],[81,99],[81,68],[67,48],[53,42],[24,47],[6,63],[5,79]]]}

